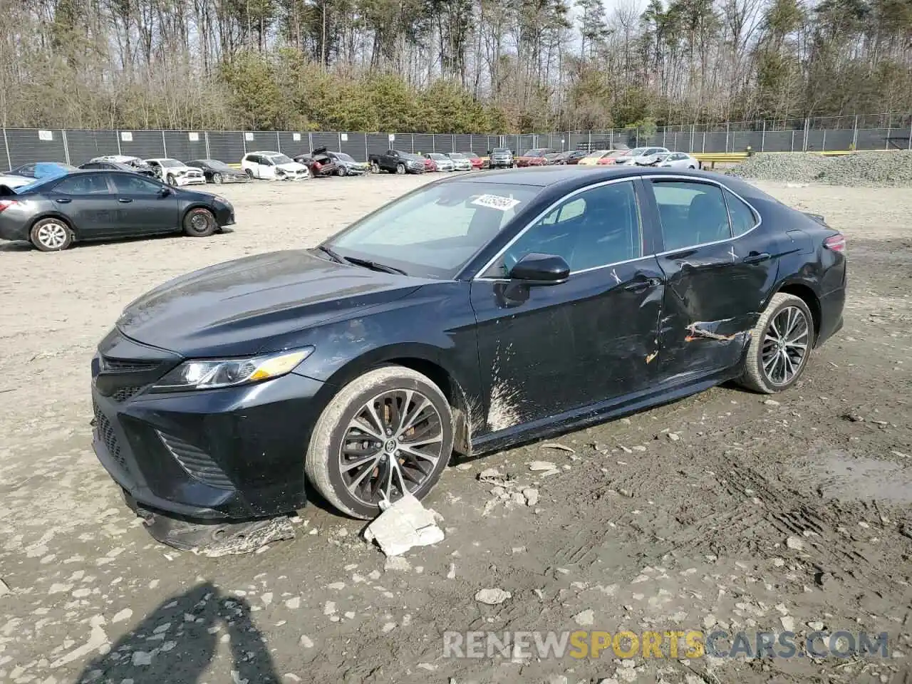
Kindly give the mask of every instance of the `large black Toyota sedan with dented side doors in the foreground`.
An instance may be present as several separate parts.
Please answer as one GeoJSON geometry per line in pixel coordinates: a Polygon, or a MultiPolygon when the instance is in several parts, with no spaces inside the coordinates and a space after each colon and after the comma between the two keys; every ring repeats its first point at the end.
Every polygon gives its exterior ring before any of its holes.
{"type": "Polygon", "coordinates": [[[184,275],[92,360],[138,508],[358,518],[463,456],[737,379],[789,389],[843,322],[845,239],[738,179],[554,166],[424,185],[315,249],[184,275]]]}

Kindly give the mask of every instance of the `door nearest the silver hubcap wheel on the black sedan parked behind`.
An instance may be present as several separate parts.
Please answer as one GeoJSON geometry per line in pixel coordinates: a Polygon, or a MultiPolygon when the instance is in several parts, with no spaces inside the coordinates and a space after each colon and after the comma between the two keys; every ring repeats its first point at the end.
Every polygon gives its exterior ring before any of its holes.
{"type": "Polygon", "coordinates": [[[79,239],[98,240],[118,232],[119,211],[108,173],[67,176],[47,193],[58,212],[73,223],[79,239]]]}

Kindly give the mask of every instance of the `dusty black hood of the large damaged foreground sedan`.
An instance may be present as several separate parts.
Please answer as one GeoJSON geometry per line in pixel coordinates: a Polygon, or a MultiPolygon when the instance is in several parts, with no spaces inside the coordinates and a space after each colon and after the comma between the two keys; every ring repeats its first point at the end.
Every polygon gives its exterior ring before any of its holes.
{"type": "Polygon", "coordinates": [[[420,281],[336,264],[305,250],[259,254],[181,275],[140,296],[121,333],[185,358],[285,347],[290,333],[409,295],[420,281]]]}

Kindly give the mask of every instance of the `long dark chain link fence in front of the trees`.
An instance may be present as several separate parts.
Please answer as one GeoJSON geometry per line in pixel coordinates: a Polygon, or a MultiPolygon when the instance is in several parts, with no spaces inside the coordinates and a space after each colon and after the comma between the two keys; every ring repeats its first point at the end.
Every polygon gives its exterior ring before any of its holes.
{"type": "Polygon", "coordinates": [[[516,154],[549,150],[661,146],[691,153],[754,151],[912,150],[912,114],[871,114],[810,119],[729,121],[668,126],[655,130],[569,130],[520,135],[451,133],[364,133],[244,130],[39,130],[3,129],[10,169],[34,161],[78,166],[94,157],[123,154],[143,159],[217,159],[237,163],[247,152],[277,151],[290,157],[318,148],[346,152],[358,161],[396,150],[474,152],[495,147],[516,154]]]}

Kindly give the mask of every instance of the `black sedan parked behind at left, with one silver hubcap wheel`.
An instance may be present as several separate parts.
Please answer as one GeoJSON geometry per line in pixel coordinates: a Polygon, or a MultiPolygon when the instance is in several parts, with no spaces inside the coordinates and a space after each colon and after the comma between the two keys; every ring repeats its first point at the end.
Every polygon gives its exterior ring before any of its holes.
{"type": "Polygon", "coordinates": [[[133,171],[74,171],[16,190],[0,186],[0,239],[42,252],[76,241],[160,233],[208,237],[234,223],[231,202],[133,171]]]}

